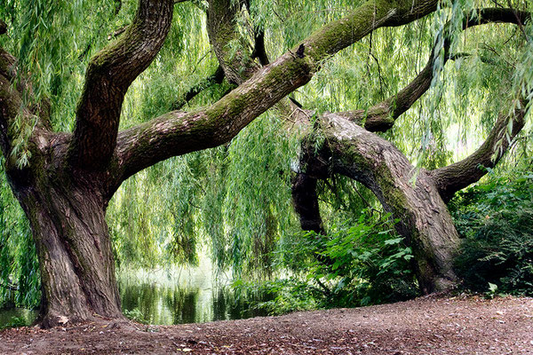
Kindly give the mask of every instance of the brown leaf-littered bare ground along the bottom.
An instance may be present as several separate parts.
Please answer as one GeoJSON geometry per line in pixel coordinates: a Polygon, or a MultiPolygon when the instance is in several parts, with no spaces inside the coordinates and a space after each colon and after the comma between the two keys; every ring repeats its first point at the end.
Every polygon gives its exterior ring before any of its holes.
{"type": "Polygon", "coordinates": [[[533,298],[397,304],[179,326],[101,320],[0,332],[1,354],[533,354],[533,298]]]}

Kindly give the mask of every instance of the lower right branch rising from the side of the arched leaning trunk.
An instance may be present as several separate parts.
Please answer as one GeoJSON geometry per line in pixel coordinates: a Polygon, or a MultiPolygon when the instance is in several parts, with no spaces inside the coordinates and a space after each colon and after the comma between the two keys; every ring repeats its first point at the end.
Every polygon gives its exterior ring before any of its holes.
{"type": "Polygon", "coordinates": [[[433,170],[442,200],[449,201],[454,193],[477,182],[487,174],[486,168],[493,168],[503,157],[513,138],[524,126],[525,111],[516,110],[513,114],[500,114],[489,137],[473,154],[460,162],[433,170]],[[509,127],[512,125],[512,130],[509,127]]]}

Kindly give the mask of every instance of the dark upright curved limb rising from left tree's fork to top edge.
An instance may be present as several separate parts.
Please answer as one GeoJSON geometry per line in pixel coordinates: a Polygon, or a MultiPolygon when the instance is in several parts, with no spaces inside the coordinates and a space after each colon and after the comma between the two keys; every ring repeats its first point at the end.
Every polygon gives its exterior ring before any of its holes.
{"type": "Polygon", "coordinates": [[[69,162],[102,169],[115,149],[123,98],[133,80],[155,58],[172,19],[172,0],[139,0],[131,26],[91,59],[76,112],[69,162]]]}

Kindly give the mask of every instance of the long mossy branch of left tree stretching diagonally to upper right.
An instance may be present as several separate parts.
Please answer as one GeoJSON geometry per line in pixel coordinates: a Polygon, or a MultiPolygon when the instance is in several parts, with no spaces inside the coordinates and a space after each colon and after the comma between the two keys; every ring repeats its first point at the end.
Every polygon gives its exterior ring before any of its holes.
{"type": "Polygon", "coordinates": [[[308,83],[322,60],[376,28],[400,26],[434,12],[437,3],[437,0],[390,3],[370,0],[346,18],[333,21],[307,37],[294,51],[259,68],[249,80],[208,109],[190,114],[163,114],[122,131],[117,142],[115,185],[111,190],[156,162],[226,143],[259,114],[308,83]],[[300,48],[303,51],[297,55],[300,48]]]}

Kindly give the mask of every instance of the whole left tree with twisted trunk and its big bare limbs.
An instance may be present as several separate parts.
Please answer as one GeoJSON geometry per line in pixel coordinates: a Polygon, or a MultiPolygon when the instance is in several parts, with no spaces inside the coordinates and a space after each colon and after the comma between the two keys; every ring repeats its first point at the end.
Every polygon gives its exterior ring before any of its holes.
{"type": "MultiPolygon", "coordinates": [[[[0,51],[0,146],[8,180],[38,248],[44,326],[57,325],[63,317],[122,318],[104,217],[107,202],[126,178],[171,156],[226,143],[308,83],[330,55],[376,28],[418,20],[434,12],[438,2],[371,0],[250,77],[235,77],[239,87],[212,106],[191,113],[172,111],[119,132],[124,95],[163,45],[175,3],[139,0],[131,26],[91,59],[73,133],[51,129],[46,103],[23,104],[31,85],[16,80],[16,59],[0,51]],[[14,87],[14,82],[19,84],[14,87]],[[23,133],[27,137],[21,139],[23,133]],[[21,145],[31,153],[28,164],[19,163],[16,151],[21,145]]],[[[219,29],[223,34],[225,28],[219,29]]],[[[227,64],[220,64],[232,80],[227,64]]]]}

